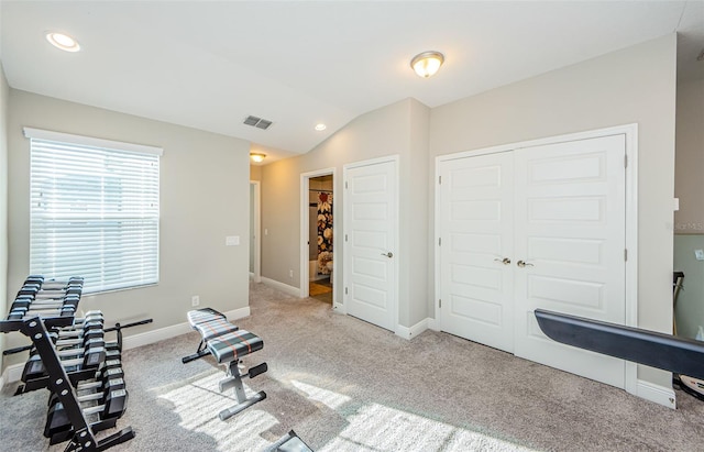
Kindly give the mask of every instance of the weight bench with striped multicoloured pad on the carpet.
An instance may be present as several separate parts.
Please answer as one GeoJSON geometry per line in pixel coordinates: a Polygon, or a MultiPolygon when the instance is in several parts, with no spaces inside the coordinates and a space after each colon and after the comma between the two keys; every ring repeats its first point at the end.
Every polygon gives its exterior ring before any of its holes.
{"type": "Polygon", "coordinates": [[[266,398],[263,390],[252,397],[246,397],[242,386],[242,377],[254,378],[267,371],[266,363],[251,367],[248,373],[240,373],[238,364],[240,359],[254,353],[264,348],[262,338],[245,330],[240,330],[230,323],[227,317],[211,308],[197,309],[188,312],[188,322],[194,330],[200,333],[200,344],[196,353],[185,356],[182,362],[189,363],[208,354],[211,354],[218,364],[226,366],[227,377],[220,381],[220,392],[234,388],[238,405],[220,411],[220,420],[226,420],[231,416],[251,407],[257,401],[266,398]]]}

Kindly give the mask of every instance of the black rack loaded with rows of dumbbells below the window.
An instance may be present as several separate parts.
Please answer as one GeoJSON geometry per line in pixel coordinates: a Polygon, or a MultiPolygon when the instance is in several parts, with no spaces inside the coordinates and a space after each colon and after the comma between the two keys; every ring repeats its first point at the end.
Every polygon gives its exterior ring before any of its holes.
{"type": "Polygon", "coordinates": [[[31,351],[23,375],[24,385],[16,394],[48,388],[45,436],[51,443],[69,441],[66,451],[103,451],[134,438],[132,428],[96,439],[95,433],[113,428],[127,409],[120,351],[122,329],[144,324],[152,319],[103,329],[102,313],[90,311],[75,317],[82,278],[67,282],[29,276],[10,307],[0,332],[20,331],[31,339],[28,346],[3,354],[31,351]],[[106,342],[103,334],[117,332],[117,342],[106,342]]]}

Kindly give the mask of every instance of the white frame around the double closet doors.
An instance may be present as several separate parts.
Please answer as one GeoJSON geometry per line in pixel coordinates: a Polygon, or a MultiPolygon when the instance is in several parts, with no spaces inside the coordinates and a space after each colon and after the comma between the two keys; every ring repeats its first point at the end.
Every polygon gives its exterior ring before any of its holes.
{"type": "MultiPolygon", "coordinates": [[[[440,203],[442,202],[440,189],[438,188],[440,178],[440,164],[453,159],[466,158],[484,154],[495,154],[501,152],[517,151],[526,147],[541,146],[571,141],[590,140],[602,136],[619,135],[626,137],[626,250],[628,258],[626,261],[626,312],[625,321],[627,327],[638,327],[638,124],[624,124],[613,128],[596,129],[578,133],[548,136],[538,140],[528,140],[516,143],[503,144],[498,146],[483,147],[475,151],[464,151],[455,154],[439,155],[436,157],[436,179],[435,179],[435,319],[438,330],[442,330],[442,319],[439,316],[440,309],[440,231],[442,229],[440,218],[440,203]]],[[[647,394],[639,395],[638,365],[630,361],[625,362],[625,389],[626,392],[652,399],[647,394]]],[[[641,388],[640,393],[647,392],[641,388]]]]}

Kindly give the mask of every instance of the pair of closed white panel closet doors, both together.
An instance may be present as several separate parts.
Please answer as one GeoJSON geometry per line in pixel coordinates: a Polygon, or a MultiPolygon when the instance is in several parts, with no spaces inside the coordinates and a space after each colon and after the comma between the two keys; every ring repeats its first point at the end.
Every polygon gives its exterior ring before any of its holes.
{"type": "Polygon", "coordinates": [[[625,152],[618,134],[440,162],[440,328],[623,388],[623,360],[551,341],[534,310],[625,322],[625,152]]]}

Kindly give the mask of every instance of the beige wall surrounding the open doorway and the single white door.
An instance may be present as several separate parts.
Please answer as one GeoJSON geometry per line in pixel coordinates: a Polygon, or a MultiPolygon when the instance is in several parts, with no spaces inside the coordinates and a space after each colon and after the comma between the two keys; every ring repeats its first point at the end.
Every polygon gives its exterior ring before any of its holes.
{"type": "MultiPolygon", "coordinates": [[[[338,233],[343,222],[342,167],[345,164],[399,156],[399,222],[418,229],[400,228],[399,311],[402,326],[413,326],[427,317],[427,136],[429,110],[407,99],[362,114],[301,156],[265,165],[262,169],[262,276],[299,286],[300,280],[300,174],[336,168],[334,194],[338,233]],[[413,144],[411,144],[413,143],[413,144]],[[419,177],[420,184],[411,177],[419,177]],[[418,187],[420,185],[420,187],[418,187]],[[413,198],[413,199],[411,199],[413,198]],[[416,258],[418,257],[418,258],[416,258]],[[413,262],[413,264],[411,264],[413,262]],[[288,276],[289,269],[294,277],[288,276]],[[419,276],[421,275],[421,276],[419,276]],[[411,282],[413,279],[413,282],[411,282]]],[[[334,243],[336,300],[342,302],[342,242],[334,243]]]]}

